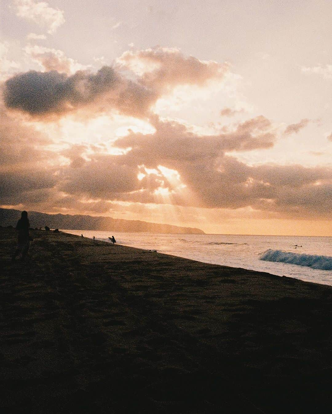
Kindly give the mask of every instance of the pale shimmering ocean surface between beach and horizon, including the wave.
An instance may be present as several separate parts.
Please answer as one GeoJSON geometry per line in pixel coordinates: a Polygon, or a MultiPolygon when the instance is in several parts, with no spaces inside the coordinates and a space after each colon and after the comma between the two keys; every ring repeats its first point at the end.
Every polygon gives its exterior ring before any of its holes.
{"type": "Polygon", "coordinates": [[[63,230],[217,265],[332,285],[332,237],[155,234],[63,230]]]}

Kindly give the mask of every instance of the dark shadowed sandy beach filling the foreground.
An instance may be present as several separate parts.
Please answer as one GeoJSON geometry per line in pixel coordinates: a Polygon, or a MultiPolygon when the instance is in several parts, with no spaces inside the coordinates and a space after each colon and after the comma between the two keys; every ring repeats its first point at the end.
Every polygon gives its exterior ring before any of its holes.
{"type": "Polygon", "coordinates": [[[0,231],[0,412],[325,413],[332,289],[63,233],[0,231]]]}

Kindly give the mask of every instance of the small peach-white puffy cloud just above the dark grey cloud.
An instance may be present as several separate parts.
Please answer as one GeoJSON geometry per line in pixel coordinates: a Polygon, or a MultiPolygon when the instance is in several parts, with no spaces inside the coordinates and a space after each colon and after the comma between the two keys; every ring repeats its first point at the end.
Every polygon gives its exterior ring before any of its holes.
{"type": "Polygon", "coordinates": [[[72,75],[78,70],[87,69],[86,65],[78,63],[77,60],[67,58],[65,53],[60,50],[38,45],[27,45],[24,51],[34,62],[41,66],[43,72],[55,70],[59,73],[72,75]]]}

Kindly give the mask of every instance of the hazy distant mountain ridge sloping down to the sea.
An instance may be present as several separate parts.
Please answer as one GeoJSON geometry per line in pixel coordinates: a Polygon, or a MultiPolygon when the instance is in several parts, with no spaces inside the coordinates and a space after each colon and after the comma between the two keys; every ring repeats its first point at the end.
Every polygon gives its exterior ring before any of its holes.
{"type": "MultiPolygon", "coordinates": [[[[204,231],[191,227],[172,226],[171,224],[149,223],[140,220],[113,219],[112,217],[93,217],[70,214],[46,214],[35,211],[28,212],[31,227],[48,226],[51,229],[68,230],[102,230],[123,232],[147,232],[147,233],[197,233],[204,231]]],[[[21,217],[21,211],[15,209],[0,208],[0,225],[16,226],[21,217]]]]}

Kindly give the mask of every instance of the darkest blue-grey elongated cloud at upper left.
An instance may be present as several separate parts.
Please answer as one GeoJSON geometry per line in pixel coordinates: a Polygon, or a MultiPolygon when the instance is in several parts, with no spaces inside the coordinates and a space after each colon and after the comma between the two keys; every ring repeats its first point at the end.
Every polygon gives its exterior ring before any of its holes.
{"type": "Polygon", "coordinates": [[[99,104],[101,110],[106,106],[142,116],[154,96],[112,67],[103,66],[96,73],[77,71],[71,76],[55,70],[16,75],[5,82],[4,100],[7,108],[39,117],[75,112],[93,103],[99,104]]]}

